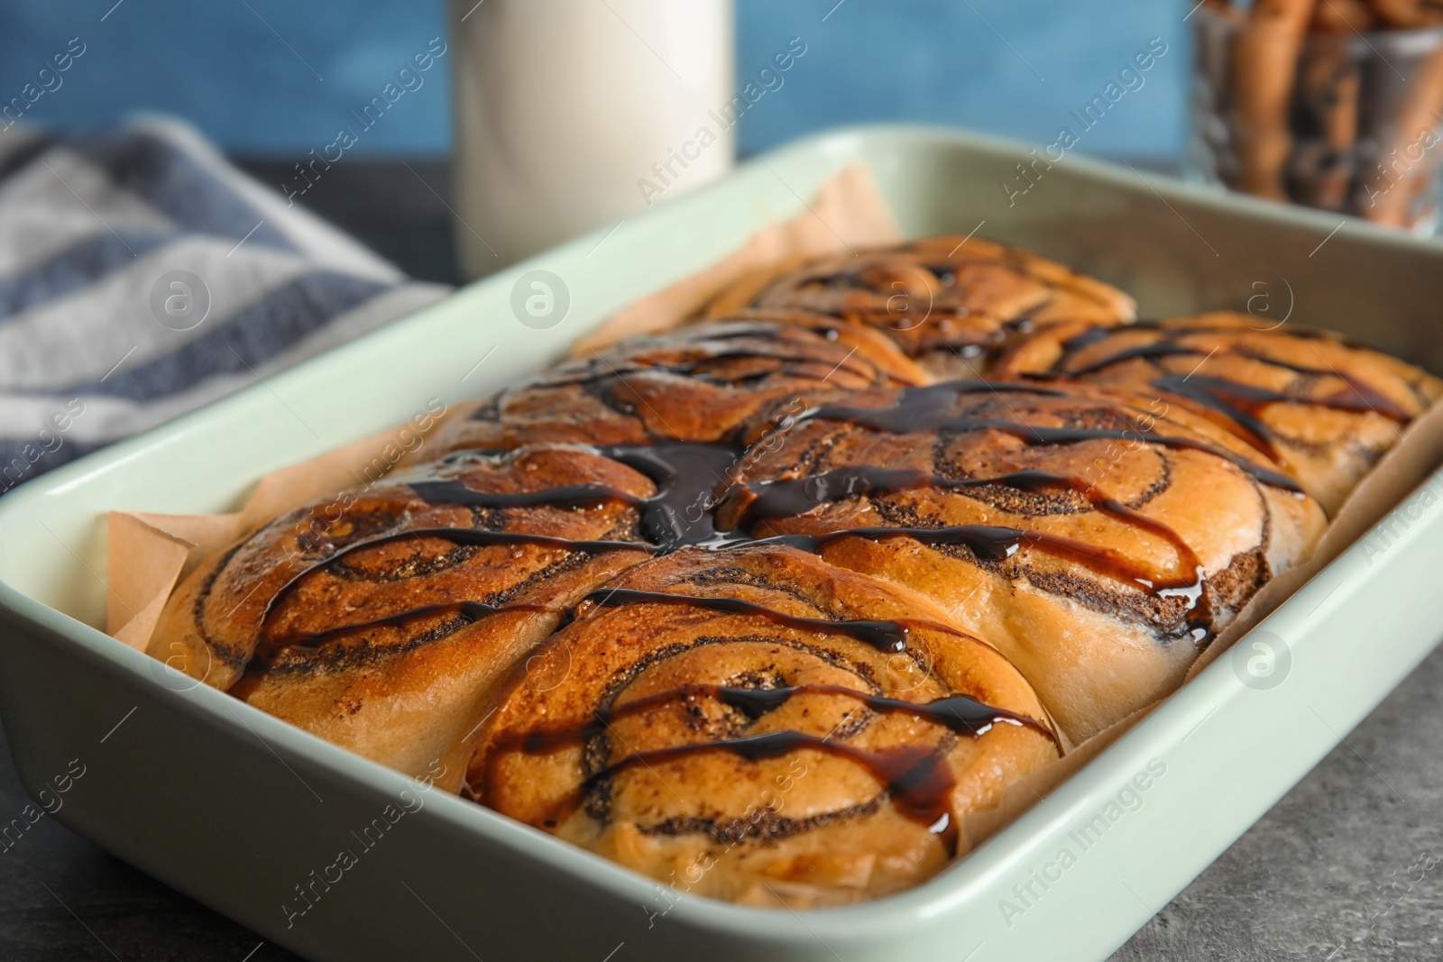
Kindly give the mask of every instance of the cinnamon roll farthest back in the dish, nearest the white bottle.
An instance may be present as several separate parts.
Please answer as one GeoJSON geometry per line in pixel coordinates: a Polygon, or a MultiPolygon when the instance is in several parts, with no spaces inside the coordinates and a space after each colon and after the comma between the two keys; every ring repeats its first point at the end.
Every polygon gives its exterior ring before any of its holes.
{"type": "Polygon", "coordinates": [[[977,376],[1020,335],[1123,325],[1133,299],[1055,261],[981,238],[928,237],[831,257],[759,284],[747,277],[709,316],[799,309],[867,325],[937,376],[977,376]]]}

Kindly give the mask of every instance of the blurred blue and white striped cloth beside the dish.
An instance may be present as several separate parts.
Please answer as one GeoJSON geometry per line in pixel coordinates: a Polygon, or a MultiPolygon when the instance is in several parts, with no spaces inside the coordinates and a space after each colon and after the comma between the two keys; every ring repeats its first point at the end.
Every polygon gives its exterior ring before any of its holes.
{"type": "Polygon", "coordinates": [[[0,131],[0,492],[446,293],[182,124],[0,131]]]}

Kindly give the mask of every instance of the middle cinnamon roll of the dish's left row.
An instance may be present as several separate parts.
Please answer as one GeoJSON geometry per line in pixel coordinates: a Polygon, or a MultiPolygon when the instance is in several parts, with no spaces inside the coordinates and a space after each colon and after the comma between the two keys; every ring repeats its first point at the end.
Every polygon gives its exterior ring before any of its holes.
{"type": "Polygon", "coordinates": [[[538,441],[727,441],[759,412],[810,392],[924,382],[916,365],[867,327],[779,312],[631,337],[564,361],[459,407],[417,457],[538,441]]]}

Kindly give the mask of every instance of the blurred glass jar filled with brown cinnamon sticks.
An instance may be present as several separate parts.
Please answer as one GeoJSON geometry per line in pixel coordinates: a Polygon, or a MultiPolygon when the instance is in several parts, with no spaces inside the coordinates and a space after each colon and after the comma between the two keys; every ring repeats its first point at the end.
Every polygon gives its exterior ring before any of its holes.
{"type": "Polygon", "coordinates": [[[1209,3],[1195,23],[1195,179],[1431,234],[1443,26],[1290,35],[1209,3]]]}

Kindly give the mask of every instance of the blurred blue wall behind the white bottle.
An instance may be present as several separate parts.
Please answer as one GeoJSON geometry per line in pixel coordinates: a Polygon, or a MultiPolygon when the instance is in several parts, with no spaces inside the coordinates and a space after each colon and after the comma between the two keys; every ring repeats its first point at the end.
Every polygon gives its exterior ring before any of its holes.
{"type": "MultiPolygon", "coordinates": [[[[600,0],[597,0],[600,1],[600,0]]],[[[685,1],[685,0],[677,0],[685,1]]],[[[444,32],[442,0],[13,0],[0,30],[0,102],[79,36],[85,55],[26,118],[107,124],[127,110],[188,117],[240,154],[329,143],[403,61],[444,32]],[[16,9],[19,7],[19,9],[16,9]],[[104,20],[102,20],[104,17],[104,20]]],[[[1134,50],[1167,55],[1079,150],[1143,160],[1182,150],[1188,25],[1179,0],[736,0],[737,78],[792,36],[808,50],[746,114],[742,153],[861,120],[973,127],[1048,141],[1134,50]],[[830,16],[827,16],[830,13],[830,16]],[[827,16],[825,22],[823,17],[827,16]]],[[[442,154],[447,61],[356,153],[442,154]]],[[[0,134],[3,136],[3,134],[0,134]]]]}

